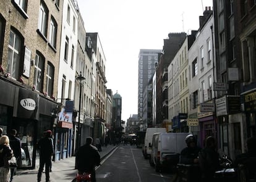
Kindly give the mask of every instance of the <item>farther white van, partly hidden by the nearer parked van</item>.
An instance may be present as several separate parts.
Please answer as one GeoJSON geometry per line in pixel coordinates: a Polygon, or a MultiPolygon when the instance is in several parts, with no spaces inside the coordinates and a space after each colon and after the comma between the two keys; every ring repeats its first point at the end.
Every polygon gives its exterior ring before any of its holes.
{"type": "Polygon", "coordinates": [[[151,143],[154,133],[166,133],[166,128],[147,128],[145,141],[142,146],[142,154],[145,159],[148,159],[151,154],[151,143]]]}

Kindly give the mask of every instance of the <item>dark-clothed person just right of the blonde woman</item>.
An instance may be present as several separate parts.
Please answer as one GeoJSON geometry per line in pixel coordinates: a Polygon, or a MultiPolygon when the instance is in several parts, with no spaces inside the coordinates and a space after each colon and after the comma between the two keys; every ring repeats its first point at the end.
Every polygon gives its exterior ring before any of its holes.
{"type": "MultiPolygon", "coordinates": [[[[12,129],[9,139],[10,139],[10,146],[12,151],[14,152],[14,157],[16,158],[17,163],[20,162],[21,160],[21,141],[19,138],[16,137],[17,134],[17,130],[12,129]]],[[[12,181],[13,177],[14,177],[14,171],[15,171],[15,167],[11,168],[11,179],[10,181],[12,181]]]]}

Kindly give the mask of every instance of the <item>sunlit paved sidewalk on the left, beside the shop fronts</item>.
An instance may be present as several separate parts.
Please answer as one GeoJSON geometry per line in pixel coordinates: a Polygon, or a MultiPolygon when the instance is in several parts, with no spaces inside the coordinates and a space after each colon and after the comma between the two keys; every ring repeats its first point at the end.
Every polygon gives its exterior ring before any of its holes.
{"type": "MultiPolygon", "coordinates": [[[[110,152],[112,152],[116,146],[108,145],[103,146],[100,152],[101,160],[106,157],[110,152]]],[[[39,168],[39,159],[36,160],[36,167],[33,170],[17,170],[14,176],[14,182],[24,182],[24,181],[36,181],[37,172],[39,168]]],[[[77,170],[75,169],[75,157],[69,157],[66,159],[58,160],[53,162],[52,167],[53,172],[50,172],[50,178],[52,182],[70,182],[74,180],[77,170]]],[[[45,181],[45,173],[42,175],[42,182],[45,181]]]]}

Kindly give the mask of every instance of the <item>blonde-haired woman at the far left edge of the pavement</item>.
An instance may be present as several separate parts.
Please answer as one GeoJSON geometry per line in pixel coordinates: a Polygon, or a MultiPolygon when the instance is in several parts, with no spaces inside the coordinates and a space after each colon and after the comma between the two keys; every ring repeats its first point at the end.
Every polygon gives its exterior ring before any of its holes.
{"type": "Polygon", "coordinates": [[[8,136],[4,135],[0,138],[0,182],[9,182],[11,171],[8,160],[12,158],[12,149],[8,136]]]}

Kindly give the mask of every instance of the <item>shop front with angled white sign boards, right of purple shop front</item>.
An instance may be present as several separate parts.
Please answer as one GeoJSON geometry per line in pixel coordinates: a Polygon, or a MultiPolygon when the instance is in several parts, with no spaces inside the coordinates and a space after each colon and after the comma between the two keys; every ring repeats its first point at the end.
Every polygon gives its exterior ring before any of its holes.
{"type": "Polygon", "coordinates": [[[232,159],[241,153],[244,143],[240,96],[226,95],[216,99],[216,130],[218,145],[224,154],[232,159]]]}

